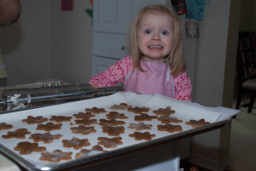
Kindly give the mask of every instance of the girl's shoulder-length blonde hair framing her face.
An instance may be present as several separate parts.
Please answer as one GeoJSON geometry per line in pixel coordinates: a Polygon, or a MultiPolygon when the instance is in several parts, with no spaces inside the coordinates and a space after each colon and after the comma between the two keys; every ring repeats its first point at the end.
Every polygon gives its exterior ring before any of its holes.
{"type": "Polygon", "coordinates": [[[143,15],[148,14],[148,12],[159,12],[161,14],[167,14],[172,18],[174,36],[172,51],[168,56],[166,56],[166,63],[170,66],[172,75],[177,77],[180,72],[186,70],[185,61],[183,59],[183,37],[177,15],[172,12],[172,9],[169,9],[164,5],[150,5],[144,7],[138,12],[137,16],[133,20],[130,31],[130,54],[133,58],[133,66],[134,68],[143,71],[140,65],[140,62],[143,59],[143,53],[138,47],[137,30],[143,15]]]}

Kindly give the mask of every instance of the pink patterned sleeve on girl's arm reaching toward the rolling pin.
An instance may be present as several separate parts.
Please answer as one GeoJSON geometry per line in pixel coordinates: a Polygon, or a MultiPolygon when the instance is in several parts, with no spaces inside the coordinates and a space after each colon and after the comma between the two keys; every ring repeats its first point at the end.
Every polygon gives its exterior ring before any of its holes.
{"type": "Polygon", "coordinates": [[[107,70],[92,77],[89,81],[90,85],[98,85],[100,88],[113,87],[117,83],[125,83],[125,77],[132,67],[131,56],[127,56],[119,60],[107,70]]]}

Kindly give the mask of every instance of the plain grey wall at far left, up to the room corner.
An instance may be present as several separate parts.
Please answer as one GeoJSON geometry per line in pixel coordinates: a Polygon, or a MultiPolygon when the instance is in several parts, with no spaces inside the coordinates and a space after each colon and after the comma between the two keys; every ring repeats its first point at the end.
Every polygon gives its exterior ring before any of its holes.
{"type": "Polygon", "coordinates": [[[50,2],[21,0],[20,20],[1,27],[3,62],[8,84],[35,82],[50,77],[50,2]]]}

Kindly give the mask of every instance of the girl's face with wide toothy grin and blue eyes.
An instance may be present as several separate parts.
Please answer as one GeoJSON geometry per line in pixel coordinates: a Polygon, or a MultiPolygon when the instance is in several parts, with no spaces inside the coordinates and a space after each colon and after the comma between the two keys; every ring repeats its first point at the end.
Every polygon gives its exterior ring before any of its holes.
{"type": "Polygon", "coordinates": [[[144,61],[164,63],[172,50],[172,17],[159,12],[144,14],[138,26],[137,40],[144,61]]]}

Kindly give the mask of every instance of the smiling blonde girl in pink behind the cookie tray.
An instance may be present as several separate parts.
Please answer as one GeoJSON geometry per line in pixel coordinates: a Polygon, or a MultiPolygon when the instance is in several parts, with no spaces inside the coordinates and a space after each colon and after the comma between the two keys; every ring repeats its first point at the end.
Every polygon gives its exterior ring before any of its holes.
{"type": "Polygon", "coordinates": [[[92,77],[93,88],[123,83],[125,91],[191,101],[177,15],[163,5],[143,8],[131,26],[130,56],[92,77]]]}

